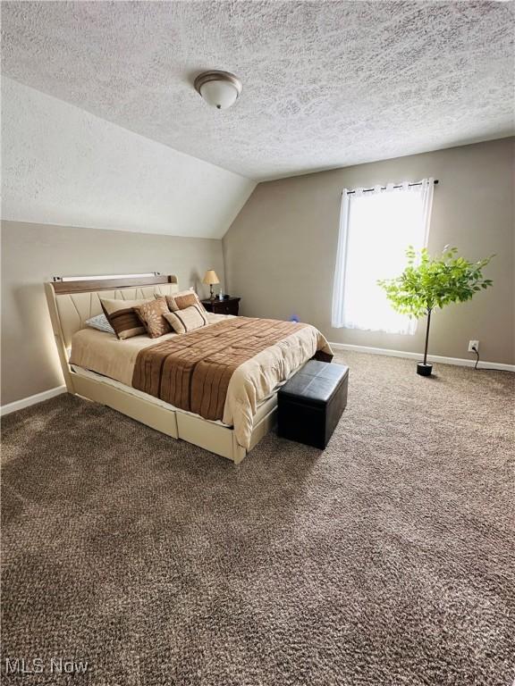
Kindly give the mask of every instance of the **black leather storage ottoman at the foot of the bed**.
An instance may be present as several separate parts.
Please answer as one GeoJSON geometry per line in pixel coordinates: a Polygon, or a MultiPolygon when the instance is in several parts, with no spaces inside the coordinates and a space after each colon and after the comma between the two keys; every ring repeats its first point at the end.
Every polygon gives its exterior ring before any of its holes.
{"type": "Polygon", "coordinates": [[[347,405],[349,367],[309,360],[277,393],[277,433],[325,448],[347,405]]]}

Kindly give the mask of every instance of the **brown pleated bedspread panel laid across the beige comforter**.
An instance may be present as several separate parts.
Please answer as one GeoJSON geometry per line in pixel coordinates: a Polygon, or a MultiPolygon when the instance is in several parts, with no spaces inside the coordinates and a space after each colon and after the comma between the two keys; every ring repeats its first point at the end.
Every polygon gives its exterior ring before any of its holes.
{"type": "Polygon", "coordinates": [[[167,339],[139,352],[132,387],[204,419],[222,420],[237,367],[307,326],[238,317],[167,339]]]}

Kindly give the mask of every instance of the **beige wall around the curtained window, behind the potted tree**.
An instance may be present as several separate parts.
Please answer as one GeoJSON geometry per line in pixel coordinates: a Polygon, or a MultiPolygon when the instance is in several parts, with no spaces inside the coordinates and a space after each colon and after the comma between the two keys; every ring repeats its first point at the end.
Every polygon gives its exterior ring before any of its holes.
{"type": "Polygon", "coordinates": [[[494,288],[434,315],[430,352],[467,358],[469,339],[479,339],[482,359],[515,363],[514,141],[504,138],[259,184],[224,237],[227,286],[242,297],[241,314],[280,319],[298,314],[335,342],[423,350],[423,324],[415,336],[333,329],[331,299],[342,188],[433,176],[440,183],[430,250],[451,244],[472,260],[491,253],[496,257],[485,272],[494,288]]]}

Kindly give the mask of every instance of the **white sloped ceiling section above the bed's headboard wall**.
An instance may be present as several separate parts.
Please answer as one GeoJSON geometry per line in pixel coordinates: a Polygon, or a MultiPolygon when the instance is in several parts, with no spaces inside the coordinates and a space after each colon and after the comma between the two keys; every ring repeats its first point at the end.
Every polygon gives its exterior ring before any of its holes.
{"type": "Polygon", "coordinates": [[[256,182],[2,79],[2,218],[222,238],[256,182]]]}

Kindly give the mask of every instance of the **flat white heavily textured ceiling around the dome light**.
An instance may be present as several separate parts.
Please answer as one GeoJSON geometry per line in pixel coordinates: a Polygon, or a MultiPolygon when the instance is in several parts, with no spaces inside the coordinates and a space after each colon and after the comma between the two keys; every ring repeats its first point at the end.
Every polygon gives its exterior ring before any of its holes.
{"type": "Polygon", "coordinates": [[[513,132],[513,4],[3,2],[3,71],[263,180],[513,132]],[[243,82],[230,110],[199,71],[243,82]]]}

